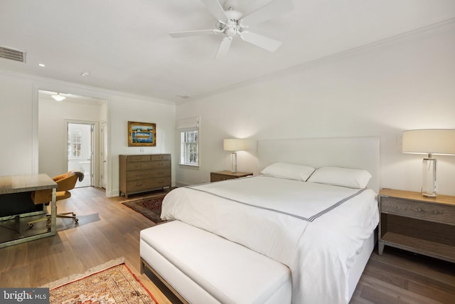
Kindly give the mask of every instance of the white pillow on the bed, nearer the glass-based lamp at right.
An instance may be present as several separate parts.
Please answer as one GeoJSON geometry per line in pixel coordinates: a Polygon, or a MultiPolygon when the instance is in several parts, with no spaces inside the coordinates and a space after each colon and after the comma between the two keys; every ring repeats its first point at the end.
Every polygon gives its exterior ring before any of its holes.
{"type": "Polygon", "coordinates": [[[370,172],[363,169],[321,167],[316,169],[316,171],[308,179],[308,182],[361,189],[367,187],[370,179],[370,172]]]}

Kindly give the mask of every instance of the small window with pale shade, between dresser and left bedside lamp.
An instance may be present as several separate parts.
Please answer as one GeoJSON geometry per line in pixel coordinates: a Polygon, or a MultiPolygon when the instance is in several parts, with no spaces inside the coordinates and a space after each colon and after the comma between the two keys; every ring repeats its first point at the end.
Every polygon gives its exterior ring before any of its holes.
{"type": "Polygon", "coordinates": [[[199,166],[199,117],[177,121],[180,133],[180,164],[199,166]]]}

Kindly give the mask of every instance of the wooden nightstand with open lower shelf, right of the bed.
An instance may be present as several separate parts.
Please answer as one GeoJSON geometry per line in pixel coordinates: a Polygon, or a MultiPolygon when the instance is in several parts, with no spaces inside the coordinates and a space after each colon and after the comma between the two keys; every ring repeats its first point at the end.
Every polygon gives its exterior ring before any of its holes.
{"type": "Polygon", "coordinates": [[[455,196],[381,189],[379,254],[384,246],[455,263],[455,196]]]}

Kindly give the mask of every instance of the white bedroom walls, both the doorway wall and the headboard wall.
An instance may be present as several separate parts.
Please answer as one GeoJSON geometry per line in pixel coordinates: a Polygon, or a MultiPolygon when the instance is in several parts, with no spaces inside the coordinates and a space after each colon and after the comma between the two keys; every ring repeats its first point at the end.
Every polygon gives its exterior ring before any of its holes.
{"type": "MultiPolygon", "coordinates": [[[[173,154],[173,182],[208,182],[229,168],[223,138],[248,137],[239,171],[257,173],[260,139],[378,136],[381,186],[418,191],[422,156],[402,154],[403,130],[455,129],[455,29],[407,37],[295,68],[276,78],[183,103],[140,98],[0,71],[0,175],[38,173],[38,90],[108,100],[109,184],[118,194],[118,155],[127,146],[127,121],[156,122],[157,147],[173,154]],[[200,170],[176,167],[176,117],[200,116],[200,170]],[[177,169],[176,169],[177,168],[177,169]],[[176,172],[174,172],[176,170],[176,172]]],[[[262,64],[262,63],[257,63],[262,64]]],[[[455,195],[455,157],[438,157],[439,193],[455,195]]]]}

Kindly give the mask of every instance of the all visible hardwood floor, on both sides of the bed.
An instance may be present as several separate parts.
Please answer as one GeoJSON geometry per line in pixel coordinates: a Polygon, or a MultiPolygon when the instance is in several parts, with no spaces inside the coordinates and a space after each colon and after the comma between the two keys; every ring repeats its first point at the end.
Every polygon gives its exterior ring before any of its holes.
{"type": "MultiPolygon", "coordinates": [[[[75,211],[79,224],[57,219],[56,236],[0,248],[0,287],[37,287],[123,256],[160,304],[174,302],[139,273],[139,231],[153,223],[120,204],[124,197],[105,197],[103,189],[80,188],[72,194],[58,202],[58,211],[75,211]]],[[[350,303],[455,303],[454,299],[454,263],[386,246],[382,256],[373,252],[350,303]]]]}

